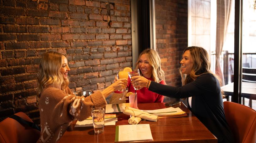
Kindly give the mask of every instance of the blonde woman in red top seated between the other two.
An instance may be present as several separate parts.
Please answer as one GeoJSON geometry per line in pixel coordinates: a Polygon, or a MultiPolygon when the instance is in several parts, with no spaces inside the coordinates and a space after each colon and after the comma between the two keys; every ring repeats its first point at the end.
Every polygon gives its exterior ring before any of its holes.
{"type": "MultiPolygon", "coordinates": [[[[139,59],[136,62],[136,69],[139,69],[140,75],[144,76],[148,80],[155,81],[160,84],[165,83],[165,73],[161,69],[161,59],[158,53],[152,49],[145,49],[139,55],[139,59]]],[[[130,78],[128,78],[128,92],[135,92],[130,78]]],[[[119,91],[115,91],[119,93],[119,91]]],[[[149,91],[146,87],[137,90],[138,103],[156,103],[163,102],[164,96],[155,92],[149,91]]],[[[129,100],[126,101],[129,103],[129,100]]]]}

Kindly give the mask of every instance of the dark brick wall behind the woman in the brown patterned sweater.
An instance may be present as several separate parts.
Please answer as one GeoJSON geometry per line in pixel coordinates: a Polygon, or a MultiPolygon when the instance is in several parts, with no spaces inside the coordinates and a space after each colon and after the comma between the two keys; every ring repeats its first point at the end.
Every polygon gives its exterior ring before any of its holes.
{"type": "Polygon", "coordinates": [[[70,88],[102,90],[131,67],[130,0],[0,0],[0,120],[16,112],[39,122],[41,55],[68,55],[70,88]]]}

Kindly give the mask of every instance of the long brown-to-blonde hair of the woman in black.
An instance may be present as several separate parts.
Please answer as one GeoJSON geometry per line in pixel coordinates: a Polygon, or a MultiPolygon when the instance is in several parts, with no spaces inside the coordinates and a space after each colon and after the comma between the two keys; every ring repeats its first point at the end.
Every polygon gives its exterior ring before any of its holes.
{"type": "MultiPolygon", "coordinates": [[[[193,60],[194,63],[193,63],[192,70],[189,74],[183,74],[181,72],[181,68],[180,68],[179,72],[181,74],[182,85],[185,85],[185,84],[188,84],[189,82],[194,81],[198,76],[200,76],[202,74],[210,73],[213,76],[215,76],[215,78],[219,81],[219,84],[221,86],[220,78],[218,76],[216,76],[210,70],[211,62],[210,62],[210,58],[209,58],[209,55],[208,55],[207,51],[202,47],[192,46],[192,47],[187,47],[183,51],[183,54],[187,50],[189,50],[191,59],[193,60]]],[[[223,93],[224,92],[221,90],[222,95],[223,95],[223,93]]]]}

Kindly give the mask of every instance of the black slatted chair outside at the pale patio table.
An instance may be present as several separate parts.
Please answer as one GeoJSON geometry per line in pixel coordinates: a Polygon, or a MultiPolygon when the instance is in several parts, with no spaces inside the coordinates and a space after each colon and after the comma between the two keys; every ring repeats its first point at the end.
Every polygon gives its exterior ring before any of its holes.
{"type": "MultiPolygon", "coordinates": [[[[254,82],[256,83],[256,68],[253,67],[243,67],[242,68],[242,81],[243,82],[254,82]]],[[[243,85],[242,85],[243,86],[243,85]]],[[[244,98],[249,99],[249,106],[252,108],[252,100],[256,100],[255,95],[250,96],[243,96],[243,105],[244,105],[244,98]]]]}

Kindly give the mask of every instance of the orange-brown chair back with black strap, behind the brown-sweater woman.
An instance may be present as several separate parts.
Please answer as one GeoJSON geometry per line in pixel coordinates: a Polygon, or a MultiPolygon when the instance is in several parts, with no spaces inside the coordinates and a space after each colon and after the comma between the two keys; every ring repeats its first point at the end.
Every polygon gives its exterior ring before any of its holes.
{"type": "MultiPolygon", "coordinates": [[[[15,115],[26,121],[33,122],[29,116],[23,112],[15,115]]],[[[40,137],[40,131],[27,125],[21,125],[12,118],[6,118],[0,122],[0,142],[1,143],[35,143],[40,137]]]]}

